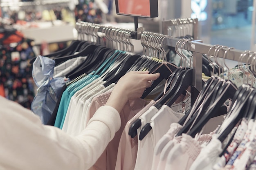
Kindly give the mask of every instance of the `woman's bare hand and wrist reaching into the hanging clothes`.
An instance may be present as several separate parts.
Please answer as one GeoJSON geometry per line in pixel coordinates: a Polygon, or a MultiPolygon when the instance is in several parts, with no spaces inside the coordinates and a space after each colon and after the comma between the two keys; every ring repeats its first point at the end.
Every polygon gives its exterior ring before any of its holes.
{"type": "Polygon", "coordinates": [[[148,71],[127,73],[119,79],[106,105],[112,106],[120,113],[128,100],[141,97],[145,89],[151,86],[151,81],[159,76],[159,73],[148,74],[148,71]]]}

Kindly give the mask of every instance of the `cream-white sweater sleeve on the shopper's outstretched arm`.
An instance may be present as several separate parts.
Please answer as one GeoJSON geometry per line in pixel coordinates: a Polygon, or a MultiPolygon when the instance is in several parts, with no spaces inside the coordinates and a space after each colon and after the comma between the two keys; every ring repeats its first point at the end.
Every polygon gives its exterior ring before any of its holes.
{"type": "Polygon", "coordinates": [[[41,124],[34,115],[0,97],[0,169],[87,170],[119,130],[117,110],[102,106],[77,137],[41,124]]]}

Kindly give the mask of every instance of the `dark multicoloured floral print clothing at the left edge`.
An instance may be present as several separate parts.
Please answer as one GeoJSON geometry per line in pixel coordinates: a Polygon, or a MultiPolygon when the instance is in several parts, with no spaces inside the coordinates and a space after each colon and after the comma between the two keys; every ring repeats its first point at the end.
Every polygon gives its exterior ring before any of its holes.
{"type": "Polygon", "coordinates": [[[23,39],[21,42],[0,47],[0,85],[4,96],[30,109],[34,98],[34,81],[29,60],[35,57],[34,42],[23,39]]]}

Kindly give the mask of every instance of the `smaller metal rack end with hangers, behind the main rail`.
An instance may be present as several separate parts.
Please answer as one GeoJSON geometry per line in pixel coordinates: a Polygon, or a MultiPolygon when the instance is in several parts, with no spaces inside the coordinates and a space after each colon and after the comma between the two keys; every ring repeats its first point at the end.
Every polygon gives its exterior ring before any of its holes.
{"type": "Polygon", "coordinates": [[[193,24],[193,38],[194,40],[198,40],[198,18],[178,18],[172,20],[162,21],[162,34],[168,35],[168,27],[169,26],[182,26],[187,24],[193,24]]]}

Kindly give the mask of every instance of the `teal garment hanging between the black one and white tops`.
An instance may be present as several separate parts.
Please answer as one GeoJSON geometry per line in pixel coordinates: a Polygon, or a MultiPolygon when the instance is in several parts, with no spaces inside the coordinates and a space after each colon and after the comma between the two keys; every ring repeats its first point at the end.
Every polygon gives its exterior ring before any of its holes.
{"type": "Polygon", "coordinates": [[[64,91],[61,102],[58,107],[58,112],[55,120],[55,127],[62,128],[66,114],[68,105],[70,104],[71,97],[76,93],[76,91],[79,91],[84,86],[90,84],[92,81],[97,79],[99,76],[93,76],[93,73],[90,73],[89,75],[83,77],[83,79],[78,80],[77,82],[71,84],[67,87],[67,89],[64,91]]]}

